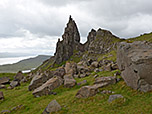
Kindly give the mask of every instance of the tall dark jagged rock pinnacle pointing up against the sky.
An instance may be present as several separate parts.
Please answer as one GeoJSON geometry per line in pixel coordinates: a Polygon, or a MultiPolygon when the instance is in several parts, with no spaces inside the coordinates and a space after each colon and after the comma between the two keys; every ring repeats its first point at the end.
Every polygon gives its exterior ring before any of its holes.
{"type": "Polygon", "coordinates": [[[80,35],[77,25],[71,16],[62,38],[62,41],[60,41],[60,39],[58,40],[56,52],[54,54],[55,63],[57,64],[68,60],[73,55],[74,50],[83,50],[83,46],[80,44],[80,35]]]}

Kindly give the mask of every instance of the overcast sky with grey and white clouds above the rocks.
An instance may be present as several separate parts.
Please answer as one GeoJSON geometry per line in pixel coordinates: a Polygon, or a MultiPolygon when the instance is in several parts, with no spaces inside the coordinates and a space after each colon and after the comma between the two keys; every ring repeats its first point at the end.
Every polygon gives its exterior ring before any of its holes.
{"type": "Polygon", "coordinates": [[[152,0],[0,0],[0,53],[53,55],[69,15],[81,42],[92,28],[121,38],[152,32],[152,0]]]}

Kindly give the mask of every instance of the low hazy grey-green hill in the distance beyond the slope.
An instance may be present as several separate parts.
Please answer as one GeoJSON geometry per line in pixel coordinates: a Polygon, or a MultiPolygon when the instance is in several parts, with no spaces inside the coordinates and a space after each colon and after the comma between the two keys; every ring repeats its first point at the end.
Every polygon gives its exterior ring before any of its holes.
{"type": "Polygon", "coordinates": [[[21,60],[14,64],[0,65],[0,72],[18,72],[19,70],[30,70],[32,68],[37,68],[49,58],[50,56],[47,55],[39,55],[34,58],[21,60]]]}

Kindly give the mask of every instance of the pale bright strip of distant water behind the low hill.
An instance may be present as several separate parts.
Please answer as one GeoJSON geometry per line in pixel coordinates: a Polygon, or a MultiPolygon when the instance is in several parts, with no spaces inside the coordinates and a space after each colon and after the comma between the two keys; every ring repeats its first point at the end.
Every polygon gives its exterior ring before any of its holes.
{"type": "Polygon", "coordinates": [[[21,60],[32,58],[32,57],[35,57],[35,56],[0,58],[0,65],[13,64],[21,60]]]}

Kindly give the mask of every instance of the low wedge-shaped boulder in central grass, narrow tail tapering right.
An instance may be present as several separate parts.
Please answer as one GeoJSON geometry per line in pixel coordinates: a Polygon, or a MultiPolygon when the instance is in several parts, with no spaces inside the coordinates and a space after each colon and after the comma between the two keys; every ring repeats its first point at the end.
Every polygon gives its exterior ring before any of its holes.
{"type": "Polygon", "coordinates": [[[83,86],[76,94],[77,98],[87,98],[98,93],[98,89],[107,86],[107,83],[95,84],[93,86],[83,86]]]}

